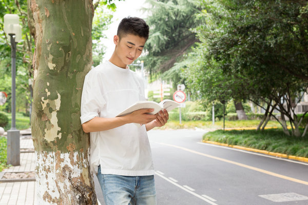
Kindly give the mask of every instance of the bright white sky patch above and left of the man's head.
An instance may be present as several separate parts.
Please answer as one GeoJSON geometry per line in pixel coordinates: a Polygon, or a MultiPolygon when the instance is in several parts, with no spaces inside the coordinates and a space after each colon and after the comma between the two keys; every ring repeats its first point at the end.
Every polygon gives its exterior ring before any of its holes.
{"type": "Polygon", "coordinates": [[[127,16],[137,16],[140,18],[146,17],[146,13],[140,11],[141,8],[146,7],[145,0],[125,0],[120,2],[115,1],[114,3],[117,5],[117,10],[113,13],[112,23],[109,29],[104,32],[107,36],[107,39],[102,41],[107,48],[103,62],[108,60],[113,53],[113,36],[117,34],[118,25],[122,18],[127,16]]]}

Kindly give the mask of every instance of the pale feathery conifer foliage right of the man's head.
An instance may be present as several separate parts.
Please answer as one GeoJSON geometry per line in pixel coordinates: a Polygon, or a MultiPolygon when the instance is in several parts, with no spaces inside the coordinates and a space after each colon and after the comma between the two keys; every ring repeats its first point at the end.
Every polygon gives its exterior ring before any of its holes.
{"type": "MultiPolygon", "coordinates": [[[[197,42],[190,28],[200,24],[196,14],[201,11],[195,1],[187,0],[148,0],[151,13],[146,19],[150,27],[147,40],[148,54],[143,58],[150,73],[163,73],[181,62],[185,53],[197,42]]],[[[168,73],[179,83],[178,68],[168,73]]]]}

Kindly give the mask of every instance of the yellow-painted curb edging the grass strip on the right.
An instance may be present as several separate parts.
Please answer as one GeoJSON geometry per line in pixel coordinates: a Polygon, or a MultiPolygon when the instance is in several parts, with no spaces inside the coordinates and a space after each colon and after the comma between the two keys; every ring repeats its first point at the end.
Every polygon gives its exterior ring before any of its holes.
{"type": "Polygon", "coordinates": [[[242,147],[242,146],[238,146],[238,145],[228,145],[228,144],[224,144],[224,143],[220,143],[220,142],[216,142],[216,141],[202,140],[202,142],[207,143],[207,144],[213,144],[213,145],[219,145],[219,146],[224,146],[224,147],[230,147],[230,148],[235,148],[235,149],[239,149],[239,150],[245,150],[245,151],[249,151],[249,152],[257,152],[257,153],[261,153],[261,154],[265,154],[265,155],[270,155],[270,156],[274,156],[274,157],[291,159],[291,160],[302,161],[302,162],[308,163],[308,158],[306,158],[306,157],[298,157],[298,156],[293,156],[293,155],[280,154],[280,153],[276,153],[276,152],[269,152],[269,151],[266,151],[266,150],[258,150],[258,149],[254,149],[254,148],[246,148],[246,147],[242,147]]]}

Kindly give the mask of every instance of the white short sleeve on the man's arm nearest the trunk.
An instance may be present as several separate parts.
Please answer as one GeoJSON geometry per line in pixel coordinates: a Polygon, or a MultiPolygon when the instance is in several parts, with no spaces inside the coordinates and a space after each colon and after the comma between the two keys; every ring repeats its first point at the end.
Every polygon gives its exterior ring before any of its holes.
{"type": "Polygon", "coordinates": [[[81,96],[81,124],[98,117],[105,106],[106,100],[103,96],[103,88],[100,84],[99,75],[89,72],[84,81],[81,96]]]}

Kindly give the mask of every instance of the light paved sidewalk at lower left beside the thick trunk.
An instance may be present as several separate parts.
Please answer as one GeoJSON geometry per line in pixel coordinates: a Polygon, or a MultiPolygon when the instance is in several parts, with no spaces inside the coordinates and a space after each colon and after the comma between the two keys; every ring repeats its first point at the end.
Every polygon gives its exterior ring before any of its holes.
{"type": "Polygon", "coordinates": [[[6,173],[21,174],[34,172],[35,156],[31,130],[21,130],[20,148],[21,165],[12,166],[0,172],[0,205],[32,205],[35,203],[35,178],[3,179],[6,173]]]}

